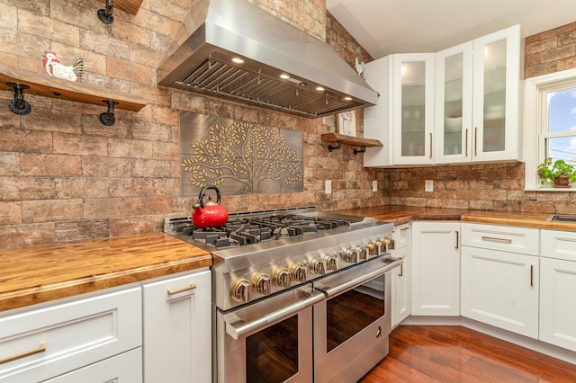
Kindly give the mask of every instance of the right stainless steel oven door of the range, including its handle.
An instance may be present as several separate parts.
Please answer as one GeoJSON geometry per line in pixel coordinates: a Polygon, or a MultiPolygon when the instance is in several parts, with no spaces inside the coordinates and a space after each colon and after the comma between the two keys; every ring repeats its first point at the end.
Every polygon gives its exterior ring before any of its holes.
{"type": "Polygon", "coordinates": [[[326,294],[314,311],[314,379],[357,381],[388,354],[392,269],[383,257],[313,282],[326,294]]]}

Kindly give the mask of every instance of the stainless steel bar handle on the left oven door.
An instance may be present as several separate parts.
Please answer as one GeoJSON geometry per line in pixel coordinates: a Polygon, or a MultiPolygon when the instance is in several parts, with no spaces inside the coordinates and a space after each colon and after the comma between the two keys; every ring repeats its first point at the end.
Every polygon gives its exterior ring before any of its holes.
{"type": "Polygon", "coordinates": [[[238,316],[230,316],[229,318],[224,316],[224,321],[226,322],[226,333],[234,338],[234,340],[238,340],[240,336],[255,332],[260,328],[266,327],[267,325],[281,322],[284,319],[293,316],[302,309],[320,302],[320,300],[324,298],[324,294],[322,294],[320,291],[311,291],[310,297],[294,302],[291,305],[282,307],[250,322],[244,322],[243,320],[238,319],[238,316]],[[229,321],[229,319],[232,318],[237,320],[235,322],[229,321]]]}

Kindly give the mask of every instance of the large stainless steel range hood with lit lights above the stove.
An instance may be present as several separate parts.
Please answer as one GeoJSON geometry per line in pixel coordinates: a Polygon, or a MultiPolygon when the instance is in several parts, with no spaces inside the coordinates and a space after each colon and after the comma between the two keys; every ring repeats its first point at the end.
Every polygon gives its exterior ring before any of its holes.
{"type": "Polygon", "coordinates": [[[378,99],[327,43],[246,0],[193,4],[157,79],[158,85],[308,118],[378,99]],[[232,61],[238,58],[243,63],[232,61]]]}

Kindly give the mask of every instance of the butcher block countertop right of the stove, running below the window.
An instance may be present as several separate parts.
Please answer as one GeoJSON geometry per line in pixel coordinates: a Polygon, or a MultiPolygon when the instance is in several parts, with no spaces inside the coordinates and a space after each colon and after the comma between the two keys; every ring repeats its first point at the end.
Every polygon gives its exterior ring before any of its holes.
{"type": "Polygon", "coordinates": [[[576,223],[546,220],[551,214],[518,213],[512,211],[418,208],[411,206],[381,206],[376,208],[340,210],[340,214],[374,217],[395,225],[415,220],[461,220],[464,222],[508,225],[519,227],[549,228],[576,231],[576,223]]]}

